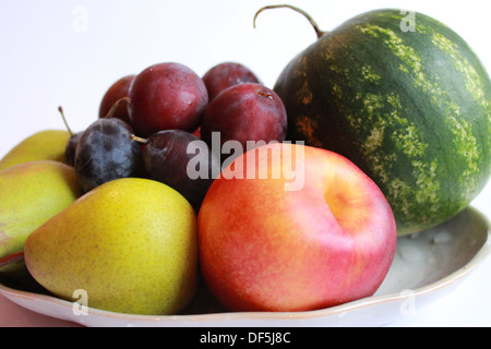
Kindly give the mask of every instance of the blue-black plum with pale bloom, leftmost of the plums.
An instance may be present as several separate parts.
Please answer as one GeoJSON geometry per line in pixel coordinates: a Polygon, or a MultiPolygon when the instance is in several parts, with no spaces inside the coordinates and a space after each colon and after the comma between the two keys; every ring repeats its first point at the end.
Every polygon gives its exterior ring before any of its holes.
{"type": "Polygon", "coordinates": [[[115,179],[141,176],[141,145],[131,134],[133,129],[117,118],[98,119],[83,132],[74,167],[84,193],[115,179]]]}

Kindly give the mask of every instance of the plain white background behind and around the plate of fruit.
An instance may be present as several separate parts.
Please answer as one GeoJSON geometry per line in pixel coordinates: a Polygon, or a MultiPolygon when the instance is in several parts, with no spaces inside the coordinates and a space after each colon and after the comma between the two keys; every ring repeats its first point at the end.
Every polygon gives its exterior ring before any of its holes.
{"type": "MultiPolygon", "coordinates": [[[[260,0],[0,0],[0,157],[28,135],[92,123],[106,89],[127,74],[176,61],[203,75],[223,61],[248,65],[273,87],[283,68],[315,40],[290,10],[252,19],[260,0]]],[[[456,31],[491,70],[490,2],[290,0],[330,31],[359,13],[396,8],[429,14],[456,31]]],[[[472,203],[491,217],[491,183],[472,203]]],[[[1,198],[0,198],[1,200],[1,198]]],[[[451,294],[404,317],[402,326],[490,326],[491,261],[451,294]]],[[[0,325],[60,325],[0,297],[0,325]]]]}

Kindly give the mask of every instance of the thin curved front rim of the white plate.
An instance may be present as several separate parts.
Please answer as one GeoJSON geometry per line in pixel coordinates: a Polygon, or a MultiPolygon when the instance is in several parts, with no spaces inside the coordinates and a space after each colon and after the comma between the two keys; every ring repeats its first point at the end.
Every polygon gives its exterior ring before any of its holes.
{"type": "MultiPolygon", "coordinates": [[[[192,322],[195,325],[204,324],[205,322],[224,322],[224,321],[242,321],[242,320],[267,320],[267,321],[292,321],[292,320],[315,320],[315,318],[324,318],[334,315],[340,315],[346,312],[351,312],[356,310],[360,310],[367,306],[395,302],[395,301],[404,301],[409,297],[420,297],[423,294],[429,294],[436,292],[438,290],[444,289],[452,284],[462,280],[466,276],[468,276],[476,267],[478,267],[490,254],[491,254],[491,227],[488,218],[475,207],[471,208],[479,217],[486,222],[487,231],[486,231],[486,241],[480,246],[479,251],[472,256],[472,258],[467,262],[464,266],[455,270],[454,273],[448,274],[447,276],[433,281],[429,285],[421,286],[410,294],[402,294],[399,292],[393,292],[388,294],[380,294],[380,296],[371,296],[367,298],[362,298],[356,301],[351,301],[348,303],[313,310],[313,311],[301,311],[301,312],[218,312],[218,313],[208,313],[208,314],[175,314],[175,315],[141,315],[141,314],[128,314],[128,313],[116,313],[111,311],[87,308],[87,314],[97,316],[97,317],[112,317],[118,321],[125,321],[128,323],[184,323],[192,322]]],[[[35,293],[25,290],[17,290],[11,288],[9,286],[0,282],[0,294],[9,298],[11,301],[15,302],[14,299],[27,299],[27,300],[40,300],[44,302],[56,303],[59,306],[67,308],[69,311],[73,311],[73,304],[75,302],[70,302],[68,300],[63,300],[50,294],[35,293]]],[[[17,302],[15,302],[17,303],[17,302]]],[[[19,303],[17,303],[19,304],[19,303]]],[[[22,308],[28,309],[23,304],[19,304],[22,308]]],[[[28,309],[29,311],[37,312],[35,310],[28,309]]],[[[40,312],[39,312],[40,313],[40,312]]],[[[56,316],[49,313],[45,313],[47,316],[63,318],[67,321],[75,322],[79,324],[86,325],[86,321],[82,321],[82,318],[86,318],[86,316],[56,316]],[[77,321],[79,317],[82,317],[77,321]]]]}

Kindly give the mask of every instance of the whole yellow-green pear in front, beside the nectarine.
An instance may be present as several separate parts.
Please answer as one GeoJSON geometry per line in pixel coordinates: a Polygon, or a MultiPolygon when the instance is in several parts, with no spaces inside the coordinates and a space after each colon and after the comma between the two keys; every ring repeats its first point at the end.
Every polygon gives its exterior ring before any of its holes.
{"type": "Polygon", "coordinates": [[[148,179],[97,186],[35,230],[31,275],[55,296],[131,314],[175,314],[197,285],[196,216],[188,201],[148,179]]]}

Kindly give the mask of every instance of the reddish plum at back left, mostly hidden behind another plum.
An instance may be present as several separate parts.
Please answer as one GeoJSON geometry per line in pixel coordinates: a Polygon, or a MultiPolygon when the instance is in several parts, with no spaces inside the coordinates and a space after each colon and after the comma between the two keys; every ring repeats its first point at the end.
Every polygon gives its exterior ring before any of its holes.
{"type": "MultiPolygon", "coordinates": [[[[112,106],[121,98],[128,97],[130,93],[130,85],[136,75],[127,75],[113,83],[103,97],[99,106],[99,118],[105,118],[112,106]]],[[[118,106],[112,118],[121,119],[131,124],[130,115],[128,112],[128,104],[122,103],[118,106]]]]}

